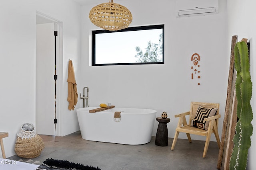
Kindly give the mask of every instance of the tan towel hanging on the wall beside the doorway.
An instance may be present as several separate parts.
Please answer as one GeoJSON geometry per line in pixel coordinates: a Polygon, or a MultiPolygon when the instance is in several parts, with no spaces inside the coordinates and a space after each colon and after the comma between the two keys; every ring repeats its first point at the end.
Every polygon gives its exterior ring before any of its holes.
{"type": "Polygon", "coordinates": [[[76,90],[76,78],[75,78],[75,71],[72,64],[72,61],[70,60],[68,62],[68,109],[74,110],[76,103],[77,103],[77,90],[76,90]]]}

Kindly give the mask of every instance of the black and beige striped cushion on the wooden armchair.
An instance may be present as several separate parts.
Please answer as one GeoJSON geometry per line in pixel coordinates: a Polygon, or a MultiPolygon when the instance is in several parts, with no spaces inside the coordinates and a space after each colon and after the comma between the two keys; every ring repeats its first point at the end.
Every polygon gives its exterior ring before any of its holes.
{"type": "Polygon", "coordinates": [[[196,116],[193,120],[193,127],[197,127],[208,131],[209,121],[206,122],[204,119],[207,117],[214,116],[217,110],[218,108],[206,108],[199,106],[196,111],[196,116]]]}

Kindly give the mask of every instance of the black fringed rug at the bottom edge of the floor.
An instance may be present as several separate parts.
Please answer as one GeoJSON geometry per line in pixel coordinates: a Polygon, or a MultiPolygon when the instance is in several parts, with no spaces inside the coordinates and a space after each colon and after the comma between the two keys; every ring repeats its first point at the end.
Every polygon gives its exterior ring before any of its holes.
{"type": "Polygon", "coordinates": [[[75,164],[66,160],[46,159],[36,170],[101,170],[93,166],[75,164]]]}

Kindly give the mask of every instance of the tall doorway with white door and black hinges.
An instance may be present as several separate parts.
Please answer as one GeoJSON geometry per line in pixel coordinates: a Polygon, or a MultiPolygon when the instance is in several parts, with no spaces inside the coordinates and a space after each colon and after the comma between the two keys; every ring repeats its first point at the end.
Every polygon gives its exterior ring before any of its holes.
{"type": "Polygon", "coordinates": [[[36,12],[36,133],[61,134],[62,22],[36,12]]]}

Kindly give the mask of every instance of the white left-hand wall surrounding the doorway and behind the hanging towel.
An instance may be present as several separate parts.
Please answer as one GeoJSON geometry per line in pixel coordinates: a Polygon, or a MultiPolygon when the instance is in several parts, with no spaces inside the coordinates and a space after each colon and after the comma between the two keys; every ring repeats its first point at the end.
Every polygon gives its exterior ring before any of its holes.
{"type": "MultiPolygon", "coordinates": [[[[63,22],[63,63],[58,82],[62,98],[58,101],[59,123],[67,135],[79,129],[75,111],[68,110],[68,59],[72,59],[79,80],[80,6],[71,0],[2,0],[0,5],[0,131],[6,157],[14,155],[16,133],[23,123],[35,124],[36,96],[36,11],[63,22]]],[[[53,76],[52,76],[53,78],[53,76]]],[[[79,86],[79,85],[78,85],[79,86]]],[[[78,103],[79,104],[79,103],[78,103]]]]}

